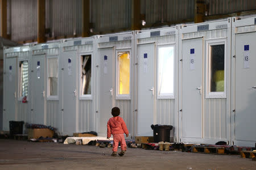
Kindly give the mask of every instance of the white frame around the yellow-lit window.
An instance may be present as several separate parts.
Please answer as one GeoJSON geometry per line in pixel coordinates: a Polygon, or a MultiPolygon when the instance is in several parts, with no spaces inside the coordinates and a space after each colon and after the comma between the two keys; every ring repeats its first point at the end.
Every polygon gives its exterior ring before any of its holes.
{"type": "Polygon", "coordinates": [[[130,100],[131,99],[131,48],[123,48],[115,50],[115,99],[117,100],[130,100]],[[129,84],[129,94],[128,95],[119,95],[119,67],[118,67],[118,53],[119,52],[129,52],[130,54],[130,84],[129,84]]]}

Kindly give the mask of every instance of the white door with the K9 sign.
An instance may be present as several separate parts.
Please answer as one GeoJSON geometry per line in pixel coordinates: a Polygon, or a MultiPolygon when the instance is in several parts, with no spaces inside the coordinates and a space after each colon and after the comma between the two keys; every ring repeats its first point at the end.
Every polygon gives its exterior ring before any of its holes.
{"type": "Polygon", "coordinates": [[[183,40],[181,141],[202,137],[202,79],[203,39],[183,40]]]}

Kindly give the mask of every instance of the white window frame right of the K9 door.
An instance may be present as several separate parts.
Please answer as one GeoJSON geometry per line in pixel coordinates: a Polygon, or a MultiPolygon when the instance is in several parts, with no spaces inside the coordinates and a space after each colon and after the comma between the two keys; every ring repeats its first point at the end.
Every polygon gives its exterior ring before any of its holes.
{"type": "Polygon", "coordinates": [[[219,98],[226,98],[226,46],[227,40],[226,39],[216,39],[216,40],[207,40],[206,42],[206,61],[205,61],[205,98],[206,99],[219,99],[219,98]],[[223,92],[210,92],[210,78],[211,78],[211,55],[210,55],[210,46],[212,45],[224,45],[224,91],[223,92]]]}

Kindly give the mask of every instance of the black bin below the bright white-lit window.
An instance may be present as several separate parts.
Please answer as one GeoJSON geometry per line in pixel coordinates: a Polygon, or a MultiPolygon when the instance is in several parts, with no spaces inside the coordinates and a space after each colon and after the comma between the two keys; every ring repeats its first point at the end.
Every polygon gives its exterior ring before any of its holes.
{"type": "Polygon", "coordinates": [[[151,125],[154,131],[154,142],[170,142],[170,131],[173,126],[171,125],[151,125]]]}

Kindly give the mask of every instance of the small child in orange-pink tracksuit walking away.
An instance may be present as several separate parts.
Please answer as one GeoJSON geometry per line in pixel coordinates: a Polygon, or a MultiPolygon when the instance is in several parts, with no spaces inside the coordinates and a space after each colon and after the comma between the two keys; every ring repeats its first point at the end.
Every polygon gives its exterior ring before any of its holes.
{"type": "Polygon", "coordinates": [[[113,135],[113,153],[112,156],[117,156],[117,148],[118,148],[118,143],[121,143],[121,152],[118,153],[118,155],[123,156],[126,151],[126,142],[125,142],[125,136],[123,135],[124,133],[126,134],[126,137],[129,136],[129,131],[126,127],[125,121],[123,121],[122,117],[119,117],[120,114],[120,109],[118,107],[112,108],[112,118],[109,119],[108,121],[108,137],[109,139],[111,137],[111,134],[113,135]]]}

